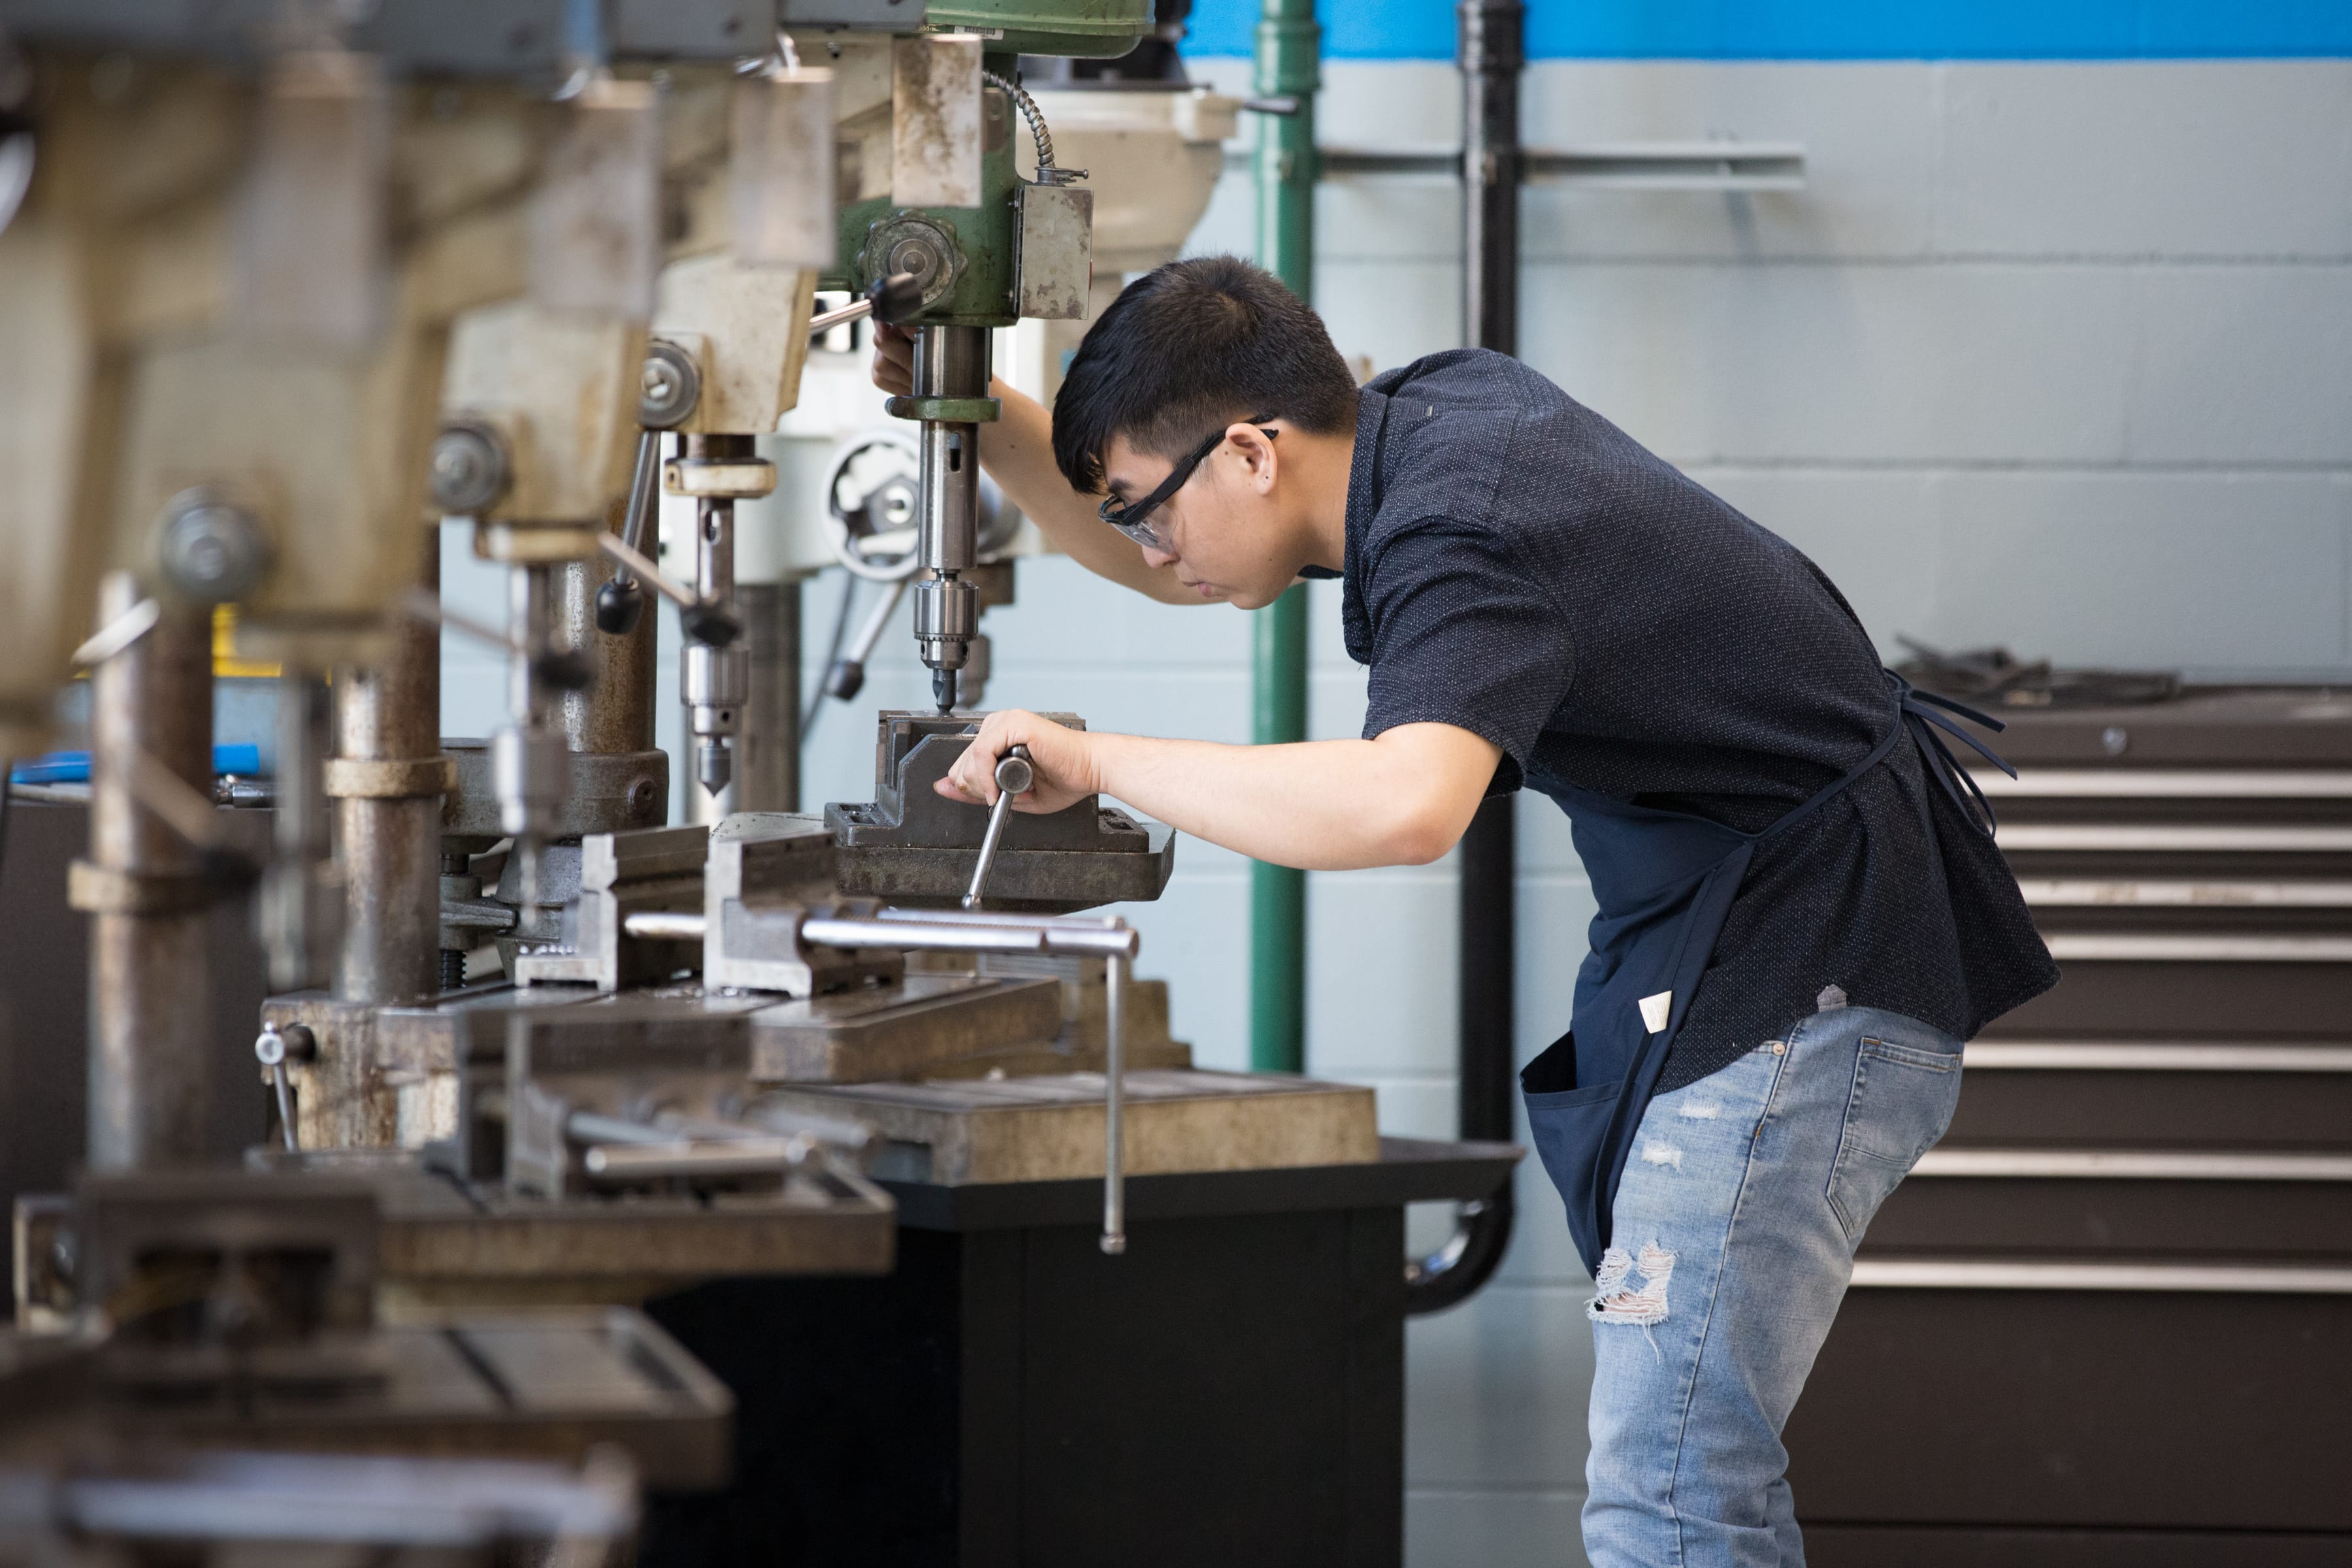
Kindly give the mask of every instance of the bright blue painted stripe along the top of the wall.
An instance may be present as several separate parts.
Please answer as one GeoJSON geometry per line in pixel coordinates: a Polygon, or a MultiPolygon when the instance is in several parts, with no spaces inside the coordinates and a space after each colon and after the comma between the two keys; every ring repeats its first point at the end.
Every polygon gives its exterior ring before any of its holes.
{"type": "MultiPolygon", "coordinates": [[[[1451,0],[1322,0],[1331,59],[1454,59],[1451,0]]],[[[1249,54],[1256,0],[1197,0],[1188,54],[1249,54]]],[[[2352,56],[2352,0],[1529,0],[1538,59],[2352,56]]]]}

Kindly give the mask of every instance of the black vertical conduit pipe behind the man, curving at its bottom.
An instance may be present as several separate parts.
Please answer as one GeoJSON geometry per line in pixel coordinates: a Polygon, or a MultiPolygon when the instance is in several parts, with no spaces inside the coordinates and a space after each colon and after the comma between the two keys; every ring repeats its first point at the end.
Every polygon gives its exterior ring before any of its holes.
{"type": "MultiPolygon", "coordinates": [[[[1463,73],[1463,322],[1477,348],[1519,353],[1519,73],[1522,0],[1456,5],[1463,73]]],[[[1461,1135],[1512,1135],[1512,877],[1510,797],[1479,806],[1461,842],[1461,1135]]],[[[1484,1286],[1510,1248],[1510,1178],[1463,1204],[1454,1234],[1404,1265],[1404,1309],[1442,1312],[1484,1286]]]]}

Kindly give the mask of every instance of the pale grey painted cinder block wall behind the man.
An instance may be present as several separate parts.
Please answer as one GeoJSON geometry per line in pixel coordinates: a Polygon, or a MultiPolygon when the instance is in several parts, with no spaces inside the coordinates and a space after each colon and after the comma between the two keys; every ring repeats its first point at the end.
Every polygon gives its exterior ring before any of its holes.
{"type": "MultiPolygon", "coordinates": [[[[1247,9],[1202,5],[1195,35],[1240,52],[1247,9]]],[[[1451,52],[1451,7],[1336,9],[1334,47],[1451,52]]],[[[1569,7],[1531,9],[1538,54],[1585,47],[1566,38],[1569,7]]],[[[2352,52],[2296,33],[2293,19],[2281,28],[2274,45],[2239,33],[2234,45],[2157,47],[2145,28],[2091,28],[2079,45],[1964,38],[1912,49],[1832,28],[1780,47],[1637,35],[1595,52],[2352,52]],[[2112,42],[2124,35],[2143,45],[2112,42]]],[[[1249,82],[1232,54],[1192,63],[1228,89],[1249,82]]],[[[1327,63],[1331,143],[1444,143],[1458,134],[1456,106],[1444,61],[1327,63]]],[[[1529,68],[1531,143],[1691,136],[1802,141],[1809,188],[1529,190],[1529,362],[1811,552],[1889,656],[1910,632],[2216,679],[2352,679],[2352,63],[1529,68]]],[[[1442,181],[1324,188],[1317,303],[1345,353],[1385,369],[1461,341],[1458,226],[1442,181]]],[[[1192,249],[1251,244],[1247,179],[1228,176],[1192,249]]],[[[456,541],[449,559],[452,592],[480,592],[456,541]]],[[[814,679],[840,576],[807,595],[814,679]]],[[[1364,677],[1341,646],[1336,585],[1315,588],[1312,625],[1312,729],[1350,736],[1364,677]]],[[[1235,611],[1143,604],[1042,559],[1021,569],[1021,602],[990,611],[988,630],[993,705],[1077,710],[1103,729],[1249,736],[1249,625],[1235,611]]],[[[924,705],[906,628],[882,649],[858,710],[924,705]]],[[[449,733],[482,733],[499,686],[473,677],[477,649],[449,654],[449,733]]],[[[663,682],[675,682],[668,661],[663,682]]],[[[677,750],[670,705],[663,745],[677,750]]],[[[807,799],[866,799],[870,769],[870,724],[828,712],[807,799]]],[[[1524,1058],[1566,1025],[1590,896],[1557,811],[1524,797],[1519,823],[1524,1058]]],[[[1244,1065],[1244,865],[1188,842],[1167,898],[1129,914],[1143,929],[1143,971],[1174,980],[1178,1034],[1204,1065],[1244,1065]]],[[[1451,865],[1317,875],[1310,922],[1310,1067],[1376,1084],[1390,1131],[1446,1135],[1451,865]]],[[[1519,1194],[1503,1276],[1411,1331],[1416,1568],[1581,1561],[1588,1281],[1541,1173],[1526,1171],[1519,1194]]]]}

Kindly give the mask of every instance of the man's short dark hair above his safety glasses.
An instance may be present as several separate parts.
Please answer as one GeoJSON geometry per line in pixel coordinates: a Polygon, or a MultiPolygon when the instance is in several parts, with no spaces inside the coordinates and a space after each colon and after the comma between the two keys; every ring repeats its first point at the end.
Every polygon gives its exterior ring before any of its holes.
{"type": "Polygon", "coordinates": [[[1237,418],[1355,428],[1355,376],[1322,317],[1240,256],[1192,256],[1120,292],[1070,357],[1054,397],[1054,461],[1082,494],[1124,435],[1176,458],[1237,418]]]}

